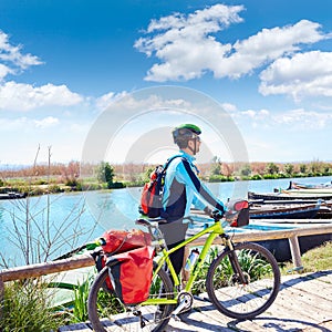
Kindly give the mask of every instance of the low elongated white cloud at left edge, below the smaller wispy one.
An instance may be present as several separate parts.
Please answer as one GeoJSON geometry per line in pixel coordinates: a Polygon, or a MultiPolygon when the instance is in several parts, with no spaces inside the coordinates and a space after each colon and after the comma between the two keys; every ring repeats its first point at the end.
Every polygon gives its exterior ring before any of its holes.
{"type": "Polygon", "coordinates": [[[33,86],[15,82],[0,85],[0,110],[29,111],[42,106],[72,106],[83,97],[65,85],[46,84],[33,86]]]}

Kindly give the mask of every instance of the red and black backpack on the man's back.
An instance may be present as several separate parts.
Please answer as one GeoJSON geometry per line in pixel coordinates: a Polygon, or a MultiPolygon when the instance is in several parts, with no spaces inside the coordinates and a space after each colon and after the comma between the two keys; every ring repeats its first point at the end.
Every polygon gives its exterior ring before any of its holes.
{"type": "Polygon", "coordinates": [[[162,200],[164,191],[164,183],[166,169],[170,162],[177,157],[169,158],[164,166],[158,165],[149,176],[149,181],[146,183],[142,190],[139,212],[148,218],[160,217],[162,200]]]}

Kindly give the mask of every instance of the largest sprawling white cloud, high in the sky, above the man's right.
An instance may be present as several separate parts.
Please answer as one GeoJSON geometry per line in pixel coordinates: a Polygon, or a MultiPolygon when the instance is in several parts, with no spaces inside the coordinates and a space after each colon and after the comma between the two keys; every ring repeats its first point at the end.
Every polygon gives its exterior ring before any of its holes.
{"type": "Polygon", "coordinates": [[[247,40],[234,44],[218,41],[214,35],[242,19],[242,6],[216,4],[197,10],[187,17],[175,13],[152,20],[148,37],[138,39],[135,48],[147,56],[155,55],[155,63],[145,77],[147,81],[191,80],[210,71],[215,77],[240,77],[284,54],[300,51],[329,38],[320,32],[321,25],[301,20],[293,25],[262,29],[247,40]]]}

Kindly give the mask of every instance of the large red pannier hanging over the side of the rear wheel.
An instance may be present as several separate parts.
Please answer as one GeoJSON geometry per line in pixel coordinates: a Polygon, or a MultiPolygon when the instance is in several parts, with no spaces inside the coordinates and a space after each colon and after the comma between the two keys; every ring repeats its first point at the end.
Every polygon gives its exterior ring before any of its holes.
{"type": "Polygon", "coordinates": [[[107,258],[113,290],[124,304],[137,304],[148,299],[153,258],[153,247],[143,247],[107,258]]]}

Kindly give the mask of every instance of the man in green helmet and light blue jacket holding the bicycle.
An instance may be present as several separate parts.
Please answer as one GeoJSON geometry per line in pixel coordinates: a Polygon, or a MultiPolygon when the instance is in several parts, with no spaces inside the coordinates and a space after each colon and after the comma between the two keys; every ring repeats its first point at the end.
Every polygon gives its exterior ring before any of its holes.
{"type": "MultiPolygon", "coordinates": [[[[173,129],[174,143],[179,147],[177,158],[168,165],[162,217],[167,224],[159,226],[168,249],[183,242],[188,228],[187,220],[191,205],[210,215],[212,209],[224,211],[224,204],[199,180],[195,166],[195,156],[199,152],[201,131],[194,124],[183,124],[173,129]]],[[[184,263],[185,250],[176,250],[170,255],[175,272],[179,274],[184,263]]]]}

